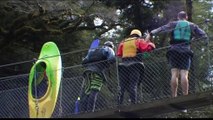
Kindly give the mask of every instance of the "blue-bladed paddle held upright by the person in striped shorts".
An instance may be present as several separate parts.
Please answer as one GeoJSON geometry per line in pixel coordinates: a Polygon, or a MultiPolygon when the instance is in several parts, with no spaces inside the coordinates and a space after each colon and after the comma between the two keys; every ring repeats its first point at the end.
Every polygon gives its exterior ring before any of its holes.
{"type": "MultiPolygon", "coordinates": [[[[100,43],[100,40],[99,39],[95,39],[92,41],[91,45],[90,45],[90,48],[89,50],[91,49],[95,49],[95,48],[98,48],[99,47],[99,43],[100,43]]],[[[81,90],[80,90],[80,94],[78,95],[78,98],[77,100],[75,101],[75,114],[78,114],[79,113],[79,104],[80,104],[80,100],[81,100],[81,94],[82,94],[82,90],[83,90],[83,87],[84,87],[84,82],[85,82],[85,79],[83,80],[82,84],[81,84],[81,90]]]]}

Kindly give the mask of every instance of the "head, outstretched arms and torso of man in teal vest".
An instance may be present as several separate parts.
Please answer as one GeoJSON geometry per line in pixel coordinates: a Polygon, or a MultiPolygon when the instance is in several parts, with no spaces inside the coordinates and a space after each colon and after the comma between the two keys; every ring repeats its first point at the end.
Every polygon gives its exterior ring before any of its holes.
{"type": "MultiPolygon", "coordinates": [[[[206,33],[198,27],[198,25],[189,22],[187,13],[181,11],[178,13],[178,20],[169,22],[157,29],[151,31],[151,35],[158,34],[160,32],[171,32],[170,44],[190,43],[192,37],[207,38],[206,33]]],[[[206,40],[206,39],[205,39],[206,40]]],[[[207,41],[205,41],[207,42],[207,41]]]]}

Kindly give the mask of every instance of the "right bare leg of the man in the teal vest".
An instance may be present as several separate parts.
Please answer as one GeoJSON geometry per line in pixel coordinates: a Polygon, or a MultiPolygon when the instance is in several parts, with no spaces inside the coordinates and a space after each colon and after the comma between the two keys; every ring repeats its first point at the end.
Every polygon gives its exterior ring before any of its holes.
{"type": "Polygon", "coordinates": [[[182,87],[183,95],[188,95],[188,89],[189,89],[188,74],[189,74],[188,70],[180,71],[181,87],[182,87]]]}

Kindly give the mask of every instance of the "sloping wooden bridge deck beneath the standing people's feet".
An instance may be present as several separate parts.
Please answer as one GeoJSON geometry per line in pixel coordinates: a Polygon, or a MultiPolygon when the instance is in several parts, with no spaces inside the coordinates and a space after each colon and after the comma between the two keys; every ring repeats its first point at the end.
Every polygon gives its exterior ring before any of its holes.
{"type": "Polygon", "coordinates": [[[156,115],[180,111],[181,109],[198,108],[212,104],[213,92],[167,98],[149,103],[134,104],[118,109],[107,109],[93,113],[82,113],[77,115],[63,116],[66,118],[151,118],[156,115]]]}

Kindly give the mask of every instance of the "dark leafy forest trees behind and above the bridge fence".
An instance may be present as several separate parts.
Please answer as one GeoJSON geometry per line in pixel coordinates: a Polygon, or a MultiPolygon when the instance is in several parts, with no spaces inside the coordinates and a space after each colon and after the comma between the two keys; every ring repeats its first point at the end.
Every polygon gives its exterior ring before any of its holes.
{"type": "MultiPolygon", "coordinates": [[[[0,9],[0,77],[29,73],[32,64],[5,65],[37,58],[47,41],[62,54],[88,48],[97,38],[117,44],[130,30],[145,35],[182,10],[210,40],[213,34],[212,0],[1,0],[0,9]]],[[[168,41],[168,34],[154,39],[157,48],[168,41]]],[[[80,64],[84,55],[77,56],[62,58],[63,66],[80,64]]]]}

